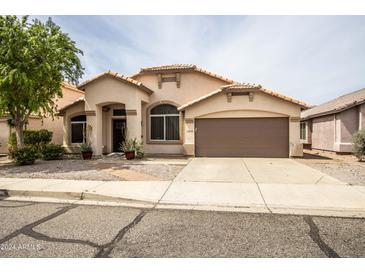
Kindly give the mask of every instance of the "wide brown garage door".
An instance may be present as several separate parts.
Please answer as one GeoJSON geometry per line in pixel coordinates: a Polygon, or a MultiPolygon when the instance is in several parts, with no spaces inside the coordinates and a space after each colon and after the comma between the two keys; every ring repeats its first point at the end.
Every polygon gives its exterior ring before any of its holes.
{"type": "Polygon", "coordinates": [[[205,157],[288,157],[288,118],[195,120],[195,155],[205,157]]]}

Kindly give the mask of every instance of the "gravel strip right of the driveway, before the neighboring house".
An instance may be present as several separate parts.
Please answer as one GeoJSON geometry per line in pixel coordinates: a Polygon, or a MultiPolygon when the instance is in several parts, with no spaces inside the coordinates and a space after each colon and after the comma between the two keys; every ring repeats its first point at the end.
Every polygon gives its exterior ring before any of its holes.
{"type": "Polygon", "coordinates": [[[365,185],[365,162],[352,155],[305,151],[304,157],[296,160],[348,184],[365,185]]]}

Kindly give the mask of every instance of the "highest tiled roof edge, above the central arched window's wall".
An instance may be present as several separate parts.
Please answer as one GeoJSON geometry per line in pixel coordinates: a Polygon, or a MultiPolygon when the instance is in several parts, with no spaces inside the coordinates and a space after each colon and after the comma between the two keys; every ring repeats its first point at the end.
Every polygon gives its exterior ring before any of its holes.
{"type": "Polygon", "coordinates": [[[156,66],[156,67],[141,68],[139,73],[136,73],[136,74],[132,75],[131,77],[133,78],[133,77],[136,77],[137,75],[145,74],[145,73],[174,73],[174,72],[190,72],[190,71],[196,71],[196,72],[203,73],[210,77],[225,81],[228,84],[236,83],[235,81],[233,81],[231,79],[228,79],[221,75],[207,71],[206,69],[199,68],[196,65],[192,65],[192,64],[174,64],[174,65],[163,65],[163,66],[156,66]]]}

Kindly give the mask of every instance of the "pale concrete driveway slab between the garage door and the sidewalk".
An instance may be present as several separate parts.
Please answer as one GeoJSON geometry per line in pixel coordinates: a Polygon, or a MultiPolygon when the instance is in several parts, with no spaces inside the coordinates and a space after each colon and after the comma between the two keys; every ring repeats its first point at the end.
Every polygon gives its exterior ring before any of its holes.
{"type": "Polygon", "coordinates": [[[292,159],[194,158],[175,182],[345,184],[292,159]]]}

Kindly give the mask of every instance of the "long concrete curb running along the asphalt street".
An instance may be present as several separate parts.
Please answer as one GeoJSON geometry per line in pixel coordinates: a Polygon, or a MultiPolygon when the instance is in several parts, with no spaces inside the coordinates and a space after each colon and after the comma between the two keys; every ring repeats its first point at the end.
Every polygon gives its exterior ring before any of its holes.
{"type": "Polygon", "coordinates": [[[28,191],[28,190],[0,190],[0,200],[32,201],[50,203],[72,203],[80,205],[100,206],[122,206],[147,209],[170,209],[170,210],[200,210],[219,212],[241,212],[241,213],[271,213],[284,215],[312,215],[326,217],[344,218],[365,218],[365,211],[362,209],[340,209],[340,208],[309,208],[309,207],[287,207],[281,205],[234,206],[234,205],[212,205],[212,204],[184,204],[184,203],[159,203],[142,201],[136,199],[113,197],[88,192],[59,192],[59,191],[28,191]]]}

